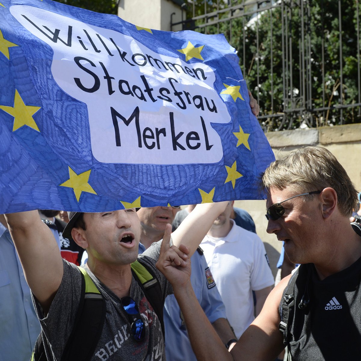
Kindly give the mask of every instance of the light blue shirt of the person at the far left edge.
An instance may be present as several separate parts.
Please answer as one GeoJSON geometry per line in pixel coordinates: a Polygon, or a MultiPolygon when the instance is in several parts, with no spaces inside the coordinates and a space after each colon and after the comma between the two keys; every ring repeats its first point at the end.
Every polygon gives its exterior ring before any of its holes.
{"type": "Polygon", "coordinates": [[[0,223],[0,359],[29,361],[40,323],[9,231],[0,223]]]}

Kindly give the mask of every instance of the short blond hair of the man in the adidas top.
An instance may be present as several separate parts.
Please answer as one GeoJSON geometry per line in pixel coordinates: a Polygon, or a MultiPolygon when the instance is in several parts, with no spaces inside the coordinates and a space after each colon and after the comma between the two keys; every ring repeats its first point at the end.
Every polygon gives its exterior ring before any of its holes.
{"type": "Polygon", "coordinates": [[[301,193],[331,187],[337,193],[339,211],[347,217],[357,204],[357,191],[345,169],[322,147],[303,147],[272,162],[261,176],[260,187],[264,191],[294,188],[301,193]]]}

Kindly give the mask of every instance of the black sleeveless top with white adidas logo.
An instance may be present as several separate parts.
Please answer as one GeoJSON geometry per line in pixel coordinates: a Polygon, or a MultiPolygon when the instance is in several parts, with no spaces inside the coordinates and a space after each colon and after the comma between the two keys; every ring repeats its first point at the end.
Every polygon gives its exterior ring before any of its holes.
{"type": "Polygon", "coordinates": [[[322,281],[313,265],[301,266],[295,284],[295,317],[290,330],[293,361],[361,359],[360,282],[361,258],[322,281]],[[304,294],[307,299],[307,292],[309,304],[301,310],[298,305],[304,294]]]}

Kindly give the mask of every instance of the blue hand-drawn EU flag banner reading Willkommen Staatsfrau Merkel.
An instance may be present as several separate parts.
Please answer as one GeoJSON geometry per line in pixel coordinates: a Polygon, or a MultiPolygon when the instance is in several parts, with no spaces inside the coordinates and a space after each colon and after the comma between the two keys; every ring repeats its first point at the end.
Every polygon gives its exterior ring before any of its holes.
{"type": "Polygon", "coordinates": [[[0,0],[0,213],[258,199],[274,160],[222,34],[0,0]]]}

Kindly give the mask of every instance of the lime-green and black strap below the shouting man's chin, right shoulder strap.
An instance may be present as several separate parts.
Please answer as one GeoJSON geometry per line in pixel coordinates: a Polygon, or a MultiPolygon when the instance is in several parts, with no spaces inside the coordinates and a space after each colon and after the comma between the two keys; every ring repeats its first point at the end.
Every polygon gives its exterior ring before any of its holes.
{"type": "Polygon", "coordinates": [[[145,297],[153,307],[154,312],[157,314],[162,327],[163,336],[165,336],[163,319],[165,299],[160,283],[149,266],[140,263],[138,260],[131,264],[131,268],[135,280],[138,282],[140,288],[142,288],[145,297]]]}

